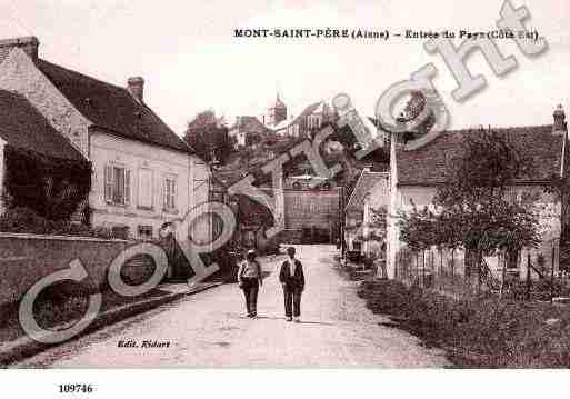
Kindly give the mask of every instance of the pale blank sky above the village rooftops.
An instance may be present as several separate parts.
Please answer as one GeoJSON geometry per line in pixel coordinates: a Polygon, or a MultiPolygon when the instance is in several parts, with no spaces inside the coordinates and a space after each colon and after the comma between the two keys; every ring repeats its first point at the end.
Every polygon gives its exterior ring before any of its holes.
{"type": "MultiPolygon", "coordinates": [[[[189,120],[213,109],[232,121],[260,117],[277,92],[299,113],[309,103],[346,92],[373,116],[378,98],[427,63],[451,114],[450,128],[552,122],[559,103],[570,112],[570,1],[511,0],[531,14],[549,49],[527,58],[512,40],[503,56],[519,67],[498,78],[480,53],[469,58],[488,87],[461,103],[457,83],[426,39],[383,40],[234,38],[234,29],[347,28],[481,31],[496,28],[502,0],[290,0],[123,1],[0,0],[0,38],[36,36],[40,57],[94,78],[126,86],[146,80],[146,102],[179,134],[189,120]]],[[[460,41],[457,40],[457,44],[460,41]]]]}

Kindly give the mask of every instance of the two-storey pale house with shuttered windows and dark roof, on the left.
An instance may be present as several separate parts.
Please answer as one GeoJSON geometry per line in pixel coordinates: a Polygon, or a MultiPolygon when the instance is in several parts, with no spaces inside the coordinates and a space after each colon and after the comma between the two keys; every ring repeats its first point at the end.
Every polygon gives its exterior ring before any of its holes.
{"type": "Polygon", "coordinates": [[[144,103],[142,78],[102,82],[40,59],[38,46],[33,37],[0,41],[0,90],[23,96],[91,162],[91,226],[157,238],[208,200],[209,168],[144,103]]]}

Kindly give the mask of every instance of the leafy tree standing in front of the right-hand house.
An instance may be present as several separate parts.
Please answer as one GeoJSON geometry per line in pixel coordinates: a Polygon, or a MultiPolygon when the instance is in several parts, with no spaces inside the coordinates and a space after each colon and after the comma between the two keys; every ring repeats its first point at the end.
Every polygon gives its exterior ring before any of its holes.
{"type": "Polygon", "coordinates": [[[533,164],[520,156],[507,136],[494,131],[464,134],[459,157],[448,166],[447,183],[430,208],[400,212],[401,240],[413,249],[431,246],[471,251],[481,286],[483,256],[519,251],[540,242],[539,193],[513,191],[533,164]]]}

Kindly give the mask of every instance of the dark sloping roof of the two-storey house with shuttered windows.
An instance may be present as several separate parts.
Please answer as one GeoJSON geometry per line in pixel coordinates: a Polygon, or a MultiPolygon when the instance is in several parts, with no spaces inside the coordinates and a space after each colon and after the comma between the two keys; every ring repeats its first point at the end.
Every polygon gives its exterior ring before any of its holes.
{"type": "Polygon", "coordinates": [[[193,153],[150,108],[127,89],[56,66],[44,60],[38,68],[87,119],[127,139],[193,153]]]}

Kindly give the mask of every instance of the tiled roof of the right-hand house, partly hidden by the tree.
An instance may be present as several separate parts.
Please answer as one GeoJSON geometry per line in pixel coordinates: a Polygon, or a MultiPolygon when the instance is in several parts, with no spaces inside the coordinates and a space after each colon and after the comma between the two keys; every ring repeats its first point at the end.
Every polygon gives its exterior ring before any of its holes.
{"type": "MultiPolygon", "coordinates": [[[[493,129],[507,134],[518,151],[532,159],[532,176],[521,177],[519,182],[539,182],[560,173],[563,134],[552,134],[552,126],[493,129]]],[[[417,150],[397,149],[398,184],[430,186],[446,182],[448,166],[462,152],[466,134],[478,130],[442,132],[436,139],[417,150]]]]}

